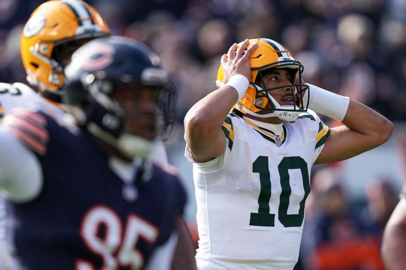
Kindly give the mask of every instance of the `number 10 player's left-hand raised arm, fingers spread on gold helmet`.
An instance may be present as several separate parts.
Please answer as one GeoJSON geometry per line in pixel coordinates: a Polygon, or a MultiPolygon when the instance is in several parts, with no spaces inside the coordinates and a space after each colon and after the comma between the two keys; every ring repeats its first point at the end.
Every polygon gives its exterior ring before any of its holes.
{"type": "Polygon", "coordinates": [[[186,114],[185,140],[196,162],[207,162],[224,152],[226,137],[221,126],[227,113],[248,88],[251,76],[248,58],[258,47],[254,44],[245,51],[248,43],[245,40],[238,49],[233,44],[228,57],[221,57],[225,85],[198,101],[186,114]]]}

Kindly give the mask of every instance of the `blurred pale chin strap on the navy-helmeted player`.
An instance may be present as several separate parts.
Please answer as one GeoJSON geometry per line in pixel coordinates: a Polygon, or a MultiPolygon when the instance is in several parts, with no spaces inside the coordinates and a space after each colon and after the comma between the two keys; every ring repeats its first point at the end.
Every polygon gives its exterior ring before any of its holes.
{"type": "Polygon", "coordinates": [[[129,133],[122,133],[116,138],[93,122],[87,124],[87,130],[100,140],[115,147],[122,155],[130,160],[134,158],[147,158],[155,147],[153,141],[129,133]]]}

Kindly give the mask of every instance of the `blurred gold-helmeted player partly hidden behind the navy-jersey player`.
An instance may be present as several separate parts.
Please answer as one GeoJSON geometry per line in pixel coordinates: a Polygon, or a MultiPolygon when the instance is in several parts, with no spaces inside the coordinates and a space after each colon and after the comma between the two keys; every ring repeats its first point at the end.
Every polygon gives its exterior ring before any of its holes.
{"type": "MultiPolygon", "coordinates": [[[[63,67],[81,45],[106,35],[109,27],[104,19],[81,0],[41,4],[32,12],[20,36],[21,60],[30,86],[0,83],[0,118],[17,106],[41,107],[56,119],[64,118],[58,105],[63,67]]],[[[9,257],[3,234],[6,214],[0,197],[0,262],[9,257]]],[[[7,269],[5,265],[0,263],[0,270],[7,269]]]]}

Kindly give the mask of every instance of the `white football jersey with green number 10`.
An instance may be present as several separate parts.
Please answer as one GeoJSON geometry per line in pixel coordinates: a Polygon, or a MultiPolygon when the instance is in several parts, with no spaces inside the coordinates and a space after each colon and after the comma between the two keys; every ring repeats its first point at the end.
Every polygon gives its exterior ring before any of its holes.
{"type": "MultiPolygon", "coordinates": [[[[311,110],[281,134],[232,113],[222,156],[193,162],[198,269],[292,269],[299,254],[310,170],[329,129],[311,110]]],[[[283,130],[283,131],[282,131],[283,130]]]]}

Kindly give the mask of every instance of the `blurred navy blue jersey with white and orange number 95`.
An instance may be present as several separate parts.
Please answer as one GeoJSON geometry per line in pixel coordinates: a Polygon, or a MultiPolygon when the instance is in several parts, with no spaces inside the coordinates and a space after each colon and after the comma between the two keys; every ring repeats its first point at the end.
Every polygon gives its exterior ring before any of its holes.
{"type": "Polygon", "coordinates": [[[128,200],[123,181],[97,142],[46,119],[47,153],[38,156],[44,175],[41,194],[29,203],[8,203],[15,267],[142,268],[183,214],[186,194],[179,178],[152,166],[145,172],[150,177],[129,189],[135,199],[128,200]]]}

